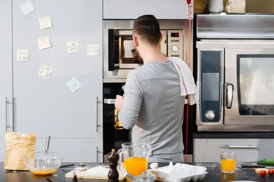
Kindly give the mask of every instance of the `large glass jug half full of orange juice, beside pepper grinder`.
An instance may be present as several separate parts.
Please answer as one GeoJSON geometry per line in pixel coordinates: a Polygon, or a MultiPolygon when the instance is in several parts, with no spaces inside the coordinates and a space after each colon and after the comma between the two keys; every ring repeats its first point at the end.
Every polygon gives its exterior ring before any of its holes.
{"type": "MultiPolygon", "coordinates": [[[[151,146],[145,143],[124,143],[117,151],[119,154],[119,169],[126,170],[132,176],[141,175],[147,170],[148,156],[151,146]]],[[[127,178],[129,182],[130,179],[127,178]]]]}

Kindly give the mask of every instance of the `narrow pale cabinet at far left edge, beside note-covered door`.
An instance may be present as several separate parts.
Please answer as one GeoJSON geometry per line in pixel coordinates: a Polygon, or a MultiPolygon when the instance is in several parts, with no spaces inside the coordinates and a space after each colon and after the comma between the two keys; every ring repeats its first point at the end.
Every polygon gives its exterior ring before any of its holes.
{"type": "Polygon", "coordinates": [[[0,162],[3,162],[5,160],[5,130],[12,131],[13,127],[11,0],[1,0],[0,7],[0,22],[2,25],[0,29],[0,162]]]}

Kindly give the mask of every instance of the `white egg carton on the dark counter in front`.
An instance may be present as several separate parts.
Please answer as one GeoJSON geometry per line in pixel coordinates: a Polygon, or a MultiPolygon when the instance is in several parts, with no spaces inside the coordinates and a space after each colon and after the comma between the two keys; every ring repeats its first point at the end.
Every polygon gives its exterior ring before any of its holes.
{"type": "Polygon", "coordinates": [[[156,175],[157,181],[161,182],[196,182],[203,180],[207,174],[205,167],[183,163],[177,163],[175,166],[170,163],[169,166],[149,169],[147,171],[156,175]]]}

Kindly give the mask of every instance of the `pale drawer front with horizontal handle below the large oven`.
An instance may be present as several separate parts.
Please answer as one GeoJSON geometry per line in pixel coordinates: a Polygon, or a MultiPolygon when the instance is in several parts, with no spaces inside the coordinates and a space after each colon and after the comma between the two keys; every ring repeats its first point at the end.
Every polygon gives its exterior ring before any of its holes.
{"type": "Polygon", "coordinates": [[[257,162],[273,158],[273,143],[274,139],[194,139],[193,161],[220,162],[220,152],[233,151],[237,162],[257,162]]]}

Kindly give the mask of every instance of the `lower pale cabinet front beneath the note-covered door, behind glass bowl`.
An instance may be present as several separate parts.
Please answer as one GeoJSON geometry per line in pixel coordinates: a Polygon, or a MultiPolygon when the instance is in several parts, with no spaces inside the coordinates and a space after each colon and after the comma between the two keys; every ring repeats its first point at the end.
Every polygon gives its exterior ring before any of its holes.
{"type": "MultiPolygon", "coordinates": [[[[36,152],[45,146],[46,139],[36,140],[36,152]]],[[[49,151],[61,153],[63,162],[103,162],[103,139],[50,139],[49,151]]]]}

